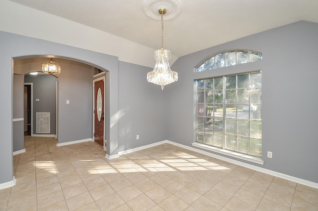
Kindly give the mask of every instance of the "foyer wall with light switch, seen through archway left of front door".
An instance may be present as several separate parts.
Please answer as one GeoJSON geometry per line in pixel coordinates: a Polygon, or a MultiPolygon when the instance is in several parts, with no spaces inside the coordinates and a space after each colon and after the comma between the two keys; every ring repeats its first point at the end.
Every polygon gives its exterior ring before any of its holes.
{"type": "Polygon", "coordinates": [[[61,65],[58,141],[65,143],[92,138],[93,69],[87,65],[74,64],[66,60],[54,61],[61,65]],[[67,100],[70,104],[66,104],[67,100]]]}

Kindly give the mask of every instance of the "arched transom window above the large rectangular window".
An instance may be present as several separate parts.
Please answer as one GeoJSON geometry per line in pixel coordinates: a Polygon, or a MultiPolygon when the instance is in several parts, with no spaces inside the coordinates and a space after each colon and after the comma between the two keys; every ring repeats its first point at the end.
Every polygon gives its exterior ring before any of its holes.
{"type": "Polygon", "coordinates": [[[221,67],[228,67],[238,64],[262,60],[262,53],[252,50],[229,50],[214,54],[201,63],[196,72],[214,70],[221,67]]]}

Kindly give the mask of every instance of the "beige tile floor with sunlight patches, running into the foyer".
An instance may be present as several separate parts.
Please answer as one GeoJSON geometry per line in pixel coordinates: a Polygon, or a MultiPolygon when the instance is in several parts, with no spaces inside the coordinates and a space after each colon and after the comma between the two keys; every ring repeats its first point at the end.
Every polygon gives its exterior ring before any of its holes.
{"type": "Polygon", "coordinates": [[[171,144],[113,160],[94,142],[25,148],[0,211],[318,211],[318,189],[171,144]]]}

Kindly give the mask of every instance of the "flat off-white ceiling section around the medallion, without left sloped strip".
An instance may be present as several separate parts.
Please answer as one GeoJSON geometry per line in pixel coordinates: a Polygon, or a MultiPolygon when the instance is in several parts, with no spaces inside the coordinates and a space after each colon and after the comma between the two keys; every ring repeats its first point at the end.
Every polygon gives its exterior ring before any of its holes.
{"type": "MultiPolygon", "coordinates": [[[[144,0],[11,1],[150,48],[161,47],[161,23],[144,14],[144,0]]],[[[176,57],[300,20],[318,23],[318,0],[181,1],[181,13],[164,21],[163,47],[176,57]]]]}

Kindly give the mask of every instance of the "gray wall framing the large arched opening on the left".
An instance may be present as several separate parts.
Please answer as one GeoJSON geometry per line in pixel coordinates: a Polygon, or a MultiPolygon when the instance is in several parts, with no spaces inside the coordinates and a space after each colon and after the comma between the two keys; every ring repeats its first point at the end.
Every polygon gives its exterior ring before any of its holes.
{"type": "MultiPolygon", "coordinates": [[[[56,55],[59,58],[83,62],[101,70],[109,71],[107,73],[109,93],[107,94],[108,105],[106,105],[106,112],[109,113],[111,118],[106,119],[107,125],[109,125],[107,154],[113,155],[118,152],[117,57],[2,31],[0,31],[0,46],[0,78],[2,79],[2,83],[0,83],[0,98],[2,102],[6,102],[5,104],[0,104],[0,184],[9,182],[13,178],[13,58],[21,59],[36,55],[56,55]]],[[[72,99],[70,99],[71,103],[72,99]]],[[[59,107],[61,114],[66,113],[63,110],[66,109],[65,106],[59,107]]],[[[78,115],[81,115],[80,112],[78,115]]],[[[91,121],[91,119],[87,120],[91,121]]],[[[69,124],[68,122],[60,122],[59,126],[68,128],[69,124]]],[[[70,140],[73,137],[70,137],[70,140]]],[[[64,139],[62,138],[62,140],[64,139]]]]}

